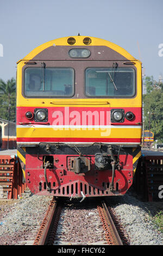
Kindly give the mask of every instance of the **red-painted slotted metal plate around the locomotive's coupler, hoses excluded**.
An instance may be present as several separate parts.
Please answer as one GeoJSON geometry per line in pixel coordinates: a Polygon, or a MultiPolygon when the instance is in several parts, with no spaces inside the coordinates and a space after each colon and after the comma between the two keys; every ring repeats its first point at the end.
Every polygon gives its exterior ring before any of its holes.
{"type": "Polygon", "coordinates": [[[51,187],[51,193],[49,193],[45,181],[43,157],[43,155],[26,154],[26,182],[30,190],[38,195],[116,196],[125,194],[133,182],[133,157],[131,155],[120,155],[119,168],[115,171],[112,192],[109,188],[112,169],[98,170],[95,166],[95,155],[86,156],[90,160],[91,168],[88,172],[79,174],[68,170],[70,155],[53,155],[54,166],[52,169],[46,170],[48,184],[51,187]]]}

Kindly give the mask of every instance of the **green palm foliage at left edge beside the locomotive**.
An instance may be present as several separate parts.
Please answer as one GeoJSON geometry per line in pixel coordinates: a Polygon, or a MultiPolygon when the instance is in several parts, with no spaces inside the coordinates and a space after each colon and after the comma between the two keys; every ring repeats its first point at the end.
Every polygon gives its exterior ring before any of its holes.
{"type": "Polygon", "coordinates": [[[16,81],[0,79],[0,118],[16,121],[16,81]]]}

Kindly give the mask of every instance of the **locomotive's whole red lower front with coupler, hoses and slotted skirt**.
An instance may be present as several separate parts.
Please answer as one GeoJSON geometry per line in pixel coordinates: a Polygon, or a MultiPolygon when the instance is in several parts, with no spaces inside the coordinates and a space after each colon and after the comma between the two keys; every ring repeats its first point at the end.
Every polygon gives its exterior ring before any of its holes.
{"type": "MultiPolygon", "coordinates": [[[[133,183],[133,147],[128,145],[40,143],[20,145],[22,150],[26,182],[35,194],[117,196],[133,183]]],[[[134,151],[137,154],[140,147],[134,146],[134,151]]]]}

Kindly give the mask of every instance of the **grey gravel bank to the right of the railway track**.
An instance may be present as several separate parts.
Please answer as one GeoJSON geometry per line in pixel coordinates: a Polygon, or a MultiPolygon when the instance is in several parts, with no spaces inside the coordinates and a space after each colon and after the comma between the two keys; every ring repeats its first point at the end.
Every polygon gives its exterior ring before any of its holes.
{"type": "Polygon", "coordinates": [[[110,202],[115,204],[112,208],[128,234],[130,245],[163,245],[163,233],[152,217],[163,210],[162,203],[141,202],[130,192],[123,197],[112,197],[110,202]]]}

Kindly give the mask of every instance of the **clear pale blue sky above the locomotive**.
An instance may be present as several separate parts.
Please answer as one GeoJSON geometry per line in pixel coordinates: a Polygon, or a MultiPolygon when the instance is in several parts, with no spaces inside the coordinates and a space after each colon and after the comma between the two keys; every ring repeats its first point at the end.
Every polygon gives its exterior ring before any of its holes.
{"type": "Polygon", "coordinates": [[[162,10],[162,0],[0,0],[0,78],[16,77],[17,60],[33,48],[80,33],[125,48],[158,81],[163,76],[162,10]]]}

